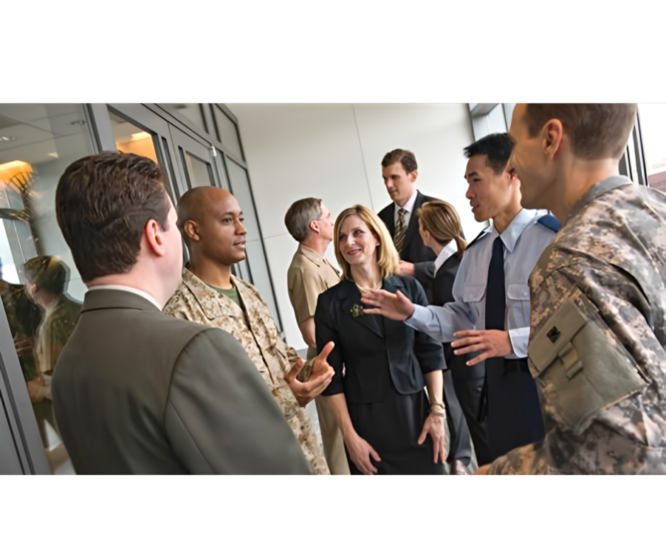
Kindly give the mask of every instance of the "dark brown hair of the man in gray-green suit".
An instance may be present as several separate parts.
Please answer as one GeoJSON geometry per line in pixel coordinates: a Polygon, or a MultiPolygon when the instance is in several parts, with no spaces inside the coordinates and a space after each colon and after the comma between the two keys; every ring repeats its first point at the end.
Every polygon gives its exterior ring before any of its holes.
{"type": "Polygon", "coordinates": [[[159,167],[132,153],[75,161],[55,193],[58,224],[84,283],[130,271],[147,222],[154,219],[166,230],[169,209],[159,167]]]}

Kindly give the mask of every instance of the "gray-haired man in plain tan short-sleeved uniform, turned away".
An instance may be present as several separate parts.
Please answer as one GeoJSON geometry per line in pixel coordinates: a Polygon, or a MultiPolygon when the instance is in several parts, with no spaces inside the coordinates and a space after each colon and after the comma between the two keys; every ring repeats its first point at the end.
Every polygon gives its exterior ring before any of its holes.
{"type": "MultiPolygon", "coordinates": [[[[317,297],[324,290],[337,285],[340,274],[326,258],[324,252],[333,240],[331,212],[316,198],[294,202],[284,218],[291,236],[299,242],[298,250],[287,272],[289,300],[303,341],[307,343],[307,358],[317,355],[315,342],[315,309],[317,297]]],[[[342,434],[326,397],[315,397],[322,431],[324,455],[332,474],[349,474],[349,463],[344,453],[342,434]]]]}

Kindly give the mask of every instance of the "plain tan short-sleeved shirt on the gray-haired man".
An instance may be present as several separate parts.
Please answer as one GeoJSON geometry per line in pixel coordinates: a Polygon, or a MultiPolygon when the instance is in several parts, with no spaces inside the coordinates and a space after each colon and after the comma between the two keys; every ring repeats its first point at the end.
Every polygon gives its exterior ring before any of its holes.
{"type": "MultiPolygon", "coordinates": [[[[340,282],[340,273],[329,261],[314,250],[298,244],[287,271],[289,300],[298,324],[315,316],[317,297],[340,282]]],[[[307,358],[315,358],[315,348],[308,348],[307,358]]]]}

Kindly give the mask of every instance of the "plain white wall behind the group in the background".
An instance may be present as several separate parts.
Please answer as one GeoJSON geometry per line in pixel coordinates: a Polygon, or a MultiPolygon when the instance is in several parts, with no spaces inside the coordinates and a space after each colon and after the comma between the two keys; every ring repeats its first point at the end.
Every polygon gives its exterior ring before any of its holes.
{"type": "MultiPolygon", "coordinates": [[[[465,237],[474,221],[463,178],[463,147],[474,141],[467,103],[226,103],[239,131],[287,341],[305,348],[287,292],[287,269],[298,246],[284,226],[300,198],[322,198],[333,217],[362,203],[378,212],[391,200],[381,160],[391,149],[417,156],[417,187],[447,200],[461,215],[465,237]]],[[[335,263],[332,246],[327,258],[335,263]]]]}

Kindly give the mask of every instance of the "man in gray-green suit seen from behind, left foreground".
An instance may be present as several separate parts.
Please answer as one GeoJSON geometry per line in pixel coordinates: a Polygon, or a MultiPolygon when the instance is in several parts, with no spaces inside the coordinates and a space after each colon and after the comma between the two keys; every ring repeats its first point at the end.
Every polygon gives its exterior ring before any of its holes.
{"type": "Polygon", "coordinates": [[[101,153],[64,172],[58,224],[89,287],[52,380],[79,474],[308,474],[238,341],[167,317],[183,263],[156,164],[101,153]]]}

